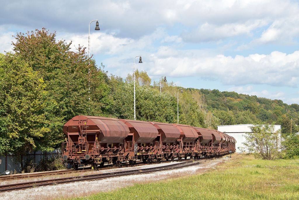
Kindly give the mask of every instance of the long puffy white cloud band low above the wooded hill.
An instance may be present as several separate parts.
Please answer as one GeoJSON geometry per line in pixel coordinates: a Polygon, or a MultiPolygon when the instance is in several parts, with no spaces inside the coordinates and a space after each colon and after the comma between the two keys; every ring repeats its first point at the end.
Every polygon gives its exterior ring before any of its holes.
{"type": "MultiPolygon", "coordinates": [[[[130,47],[126,47],[132,50],[130,47]]],[[[113,67],[126,67],[131,60],[124,62],[132,53],[123,49],[123,55],[109,58],[113,67]]],[[[134,54],[133,54],[134,55],[134,54]]],[[[273,51],[268,55],[248,56],[213,55],[202,50],[177,50],[161,46],[155,51],[142,52],[144,63],[140,65],[150,76],[196,77],[219,80],[225,85],[267,84],[271,86],[297,87],[299,80],[299,51],[286,54],[273,51]]],[[[109,61],[108,61],[109,62],[109,61]]],[[[125,69],[123,69],[123,67],[125,69]]],[[[122,75],[120,75],[122,76],[122,75]]]]}

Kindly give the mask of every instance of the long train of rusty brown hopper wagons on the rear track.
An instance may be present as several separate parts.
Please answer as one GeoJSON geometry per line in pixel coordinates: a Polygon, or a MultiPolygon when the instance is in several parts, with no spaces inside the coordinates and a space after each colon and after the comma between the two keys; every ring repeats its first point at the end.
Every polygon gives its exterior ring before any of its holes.
{"type": "Polygon", "coordinates": [[[225,133],[184,124],[75,116],[63,126],[62,159],[68,168],[104,163],[119,166],[174,159],[218,157],[236,151],[236,140],[225,133]]]}

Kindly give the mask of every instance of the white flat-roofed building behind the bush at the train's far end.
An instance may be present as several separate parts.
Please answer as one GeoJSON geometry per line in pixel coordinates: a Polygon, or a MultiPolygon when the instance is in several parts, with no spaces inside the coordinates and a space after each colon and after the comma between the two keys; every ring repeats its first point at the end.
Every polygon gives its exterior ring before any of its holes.
{"type": "MultiPolygon", "coordinates": [[[[217,129],[222,133],[226,133],[229,136],[234,137],[237,140],[236,151],[237,153],[242,153],[239,150],[239,148],[244,147],[244,145],[242,144],[242,142],[246,141],[244,135],[246,133],[252,132],[250,129],[250,127],[252,126],[253,124],[237,124],[237,125],[218,126],[217,129]]],[[[280,129],[281,129],[281,125],[274,125],[274,132],[280,129]]]]}

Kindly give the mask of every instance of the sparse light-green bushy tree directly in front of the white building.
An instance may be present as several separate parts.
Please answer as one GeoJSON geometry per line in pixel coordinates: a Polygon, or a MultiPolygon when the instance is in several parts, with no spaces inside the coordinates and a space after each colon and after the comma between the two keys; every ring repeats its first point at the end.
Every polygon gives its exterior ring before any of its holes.
{"type": "Polygon", "coordinates": [[[245,134],[246,142],[242,143],[249,153],[264,160],[280,157],[280,130],[274,132],[274,125],[257,124],[251,127],[251,131],[245,134]]]}

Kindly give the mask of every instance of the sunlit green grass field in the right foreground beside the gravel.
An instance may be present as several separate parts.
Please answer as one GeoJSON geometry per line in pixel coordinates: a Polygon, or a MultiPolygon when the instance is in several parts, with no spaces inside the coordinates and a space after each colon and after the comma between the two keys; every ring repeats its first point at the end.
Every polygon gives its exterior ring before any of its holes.
{"type": "Polygon", "coordinates": [[[234,154],[231,161],[199,175],[135,184],[72,200],[83,199],[299,199],[299,160],[265,161],[234,154]]]}

